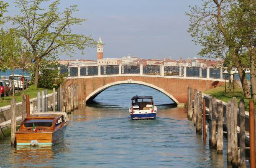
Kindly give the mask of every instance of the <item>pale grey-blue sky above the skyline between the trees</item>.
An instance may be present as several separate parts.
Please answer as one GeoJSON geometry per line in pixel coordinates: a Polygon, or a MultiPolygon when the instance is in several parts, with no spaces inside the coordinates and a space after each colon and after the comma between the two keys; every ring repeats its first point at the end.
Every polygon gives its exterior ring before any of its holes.
{"type": "MultiPolygon", "coordinates": [[[[18,14],[13,0],[5,15],[18,14]]],[[[52,2],[52,0],[50,0],[52,2]]],[[[87,21],[72,27],[76,34],[91,35],[104,45],[104,58],[137,55],[144,59],[179,59],[198,57],[201,47],[192,42],[187,29],[189,5],[200,5],[201,0],[61,0],[59,10],[78,5],[75,17],[87,21]]],[[[97,49],[87,48],[71,59],[97,59],[97,49]]],[[[59,55],[60,59],[70,59],[59,55]]]]}

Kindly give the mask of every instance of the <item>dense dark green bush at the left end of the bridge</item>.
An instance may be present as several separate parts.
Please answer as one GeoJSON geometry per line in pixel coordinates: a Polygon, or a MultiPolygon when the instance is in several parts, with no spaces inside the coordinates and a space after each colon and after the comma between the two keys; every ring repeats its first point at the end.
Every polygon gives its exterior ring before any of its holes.
{"type": "Polygon", "coordinates": [[[39,76],[38,86],[46,89],[59,87],[64,82],[63,75],[59,74],[58,69],[43,69],[39,76]]]}

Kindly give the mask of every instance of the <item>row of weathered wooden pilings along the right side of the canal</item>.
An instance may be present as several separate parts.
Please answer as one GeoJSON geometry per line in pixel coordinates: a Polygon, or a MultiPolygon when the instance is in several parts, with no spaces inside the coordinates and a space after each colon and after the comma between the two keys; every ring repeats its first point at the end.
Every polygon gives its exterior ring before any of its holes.
{"type": "Polygon", "coordinates": [[[225,133],[224,135],[228,140],[227,162],[233,167],[246,167],[246,148],[248,148],[246,147],[246,127],[249,127],[250,165],[251,168],[255,168],[256,114],[253,100],[250,100],[249,106],[249,124],[246,122],[244,100],[240,100],[238,108],[236,97],[228,101],[225,108],[223,108],[222,101],[210,97],[206,114],[205,99],[201,91],[198,92],[195,89],[193,94],[192,88],[188,87],[188,119],[193,121],[197,134],[201,135],[203,132],[204,141],[206,141],[209,126],[209,146],[216,149],[217,153],[220,154],[223,153],[223,133],[225,133]],[[208,124],[206,124],[206,117],[208,124]],[[223,128],[226,131],[223,131],[223,128]]]}

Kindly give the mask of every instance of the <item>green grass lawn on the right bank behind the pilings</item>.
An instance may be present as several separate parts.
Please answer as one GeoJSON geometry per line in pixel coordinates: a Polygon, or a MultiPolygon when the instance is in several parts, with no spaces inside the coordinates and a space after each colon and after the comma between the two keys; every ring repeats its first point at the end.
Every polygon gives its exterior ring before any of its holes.
{"type": "MultiPolygon", "coordinates": [[[[219,100],[222,100],[224,102],[228,102],[229,100],[232,100],[233,97],[236,97],[238,101],[238,107],[239,107],[239,101],[240,99],[244,99],[243,96],[243,89],[241,89],[237,84],[235,84],[235,93],[233,94],[233,89],[231,90],[231,93],[229,93],[228,85],[226,86],[227,93],[225,94],[225,86],[218,86],[216,88],[204,91],[204,94],[208,94],[212,97],[216,97],[219,100]]],[[[246,111],[249,111],[249,100],[251,99],[244,99],[246,111]]],[[[254,103],[255,106],[255,103],[254,103]]],[[[256,107],[256,106],[255,106],[256,107]]]]}

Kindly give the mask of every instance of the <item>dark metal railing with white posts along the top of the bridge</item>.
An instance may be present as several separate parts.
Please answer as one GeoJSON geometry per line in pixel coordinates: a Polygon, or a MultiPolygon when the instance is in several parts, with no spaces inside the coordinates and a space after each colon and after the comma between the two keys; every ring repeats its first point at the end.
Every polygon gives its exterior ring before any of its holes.
{"type": "Polygon", "coordinates": [[[209,67],[177,67],[164,65],[141,65],[141,64],[119,64],[101,65],[90,67],[67,67],[61,68],[60,74],[65,77],[81,77],[113,74],[140,74],[140,75],[161,75],[177,77],[202,77],[224,79],[220,68],[209,67]]]}

